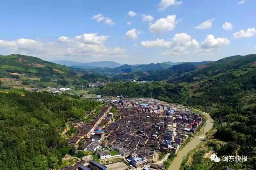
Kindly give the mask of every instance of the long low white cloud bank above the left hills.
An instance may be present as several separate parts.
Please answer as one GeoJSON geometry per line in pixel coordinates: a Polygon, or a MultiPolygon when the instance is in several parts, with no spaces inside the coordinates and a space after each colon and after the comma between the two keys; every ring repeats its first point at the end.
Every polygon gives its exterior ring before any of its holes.
{"type": "Polygon", "coordinates": [[[14,41],[0,40],[0,47],[10,53],[20,53],[41,57],[63,58],[70,57],[108,57],[123,56],[125,49],[120,47],[108,48],[105,46],[108,36],[99,36],[97,33],[85,33],[69,38],[61,36],[56,42],[36,41],[32,39],[18,39],[14,41]]]}

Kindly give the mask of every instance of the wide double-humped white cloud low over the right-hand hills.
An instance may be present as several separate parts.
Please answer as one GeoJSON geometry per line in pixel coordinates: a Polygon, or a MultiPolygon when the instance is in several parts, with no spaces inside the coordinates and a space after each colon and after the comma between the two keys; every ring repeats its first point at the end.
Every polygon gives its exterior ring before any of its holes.
{"type": "Polygon", "coordinates": [[[176,33],[171,41],[156,39],[156,41],[141,41],[140,44],[147,48],[164,48],[163,55],[186,55],[191,52],[202,54],[214,52],[220,47],[230,44],[227,38],[215,38],[208,35],[200,44],[186,33],[176,33]]]}

